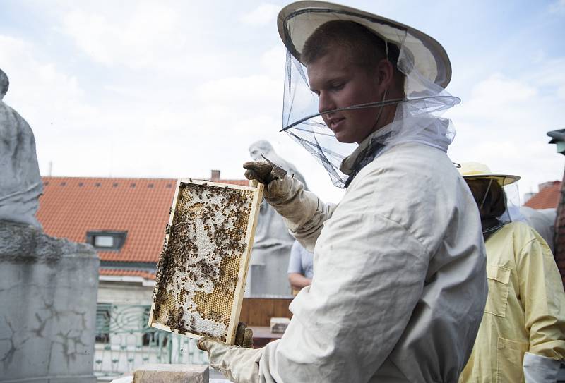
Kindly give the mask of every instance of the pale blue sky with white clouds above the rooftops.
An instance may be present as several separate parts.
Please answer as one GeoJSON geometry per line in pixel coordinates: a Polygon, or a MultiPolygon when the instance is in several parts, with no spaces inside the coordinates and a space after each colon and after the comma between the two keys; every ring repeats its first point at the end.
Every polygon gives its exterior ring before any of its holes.
{"type": "MultiPolygon", "coordinates": [[[[243,178],[269,140],[311,190],[338,202],[313,157],[282,128],[283,1],[0,0],[4,102],[30,123],[43,176],[243,178]]],[[[438,40],[453,162],[522,176],[520,193],[561,180],[548,145],[565,128],[565,0],[347,1],[438,40]]]]}

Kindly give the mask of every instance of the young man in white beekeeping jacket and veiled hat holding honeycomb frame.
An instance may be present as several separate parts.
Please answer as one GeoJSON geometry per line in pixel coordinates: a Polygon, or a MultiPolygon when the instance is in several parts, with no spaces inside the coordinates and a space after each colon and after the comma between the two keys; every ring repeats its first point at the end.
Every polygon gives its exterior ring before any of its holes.
{"type": "Polygon", "coordinates": [[[285,7],[278,28],[283,130],[347,190],[328,205],[291,176],[244,165],[314,251],[314,278],[279,341],[199,346],[234,382],[456,382],[487,278],[475,202],[446,156],[453,130],[436,115],[458,102],[444,91],[446,52],[413,28],[319,1],[285,7]]]}

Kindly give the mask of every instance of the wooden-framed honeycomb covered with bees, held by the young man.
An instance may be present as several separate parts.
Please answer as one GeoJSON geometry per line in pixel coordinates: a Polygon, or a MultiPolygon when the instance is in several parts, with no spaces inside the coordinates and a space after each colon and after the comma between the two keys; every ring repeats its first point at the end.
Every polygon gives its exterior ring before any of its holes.
{"type": "Polygon", "coordinates": [[[152,323],[232,342],[256,194],[255,188],[179,183],[157,264],[152,323]]]}

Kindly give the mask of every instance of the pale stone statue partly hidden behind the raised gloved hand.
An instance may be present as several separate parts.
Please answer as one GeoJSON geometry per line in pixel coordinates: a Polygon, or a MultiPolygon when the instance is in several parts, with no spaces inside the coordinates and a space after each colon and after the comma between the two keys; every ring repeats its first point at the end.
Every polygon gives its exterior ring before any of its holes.
{"type": "MultiPolygon", "coordinates": [[[[261,155],[285,169],[288,174],[304,183],[306,181],[296,167],[280,158],[273,145],[266,140],[254,142],[249,147],[249,154],[254,161],[264,161],[261,155]]],[[[266,201],[261,203],[251,251],[251,272],[248,279],[248,296],[290,296],[287,269],[290,260],[290,248],[295,239],[288,232],[283,217],[275,212],[266,201]]]]}

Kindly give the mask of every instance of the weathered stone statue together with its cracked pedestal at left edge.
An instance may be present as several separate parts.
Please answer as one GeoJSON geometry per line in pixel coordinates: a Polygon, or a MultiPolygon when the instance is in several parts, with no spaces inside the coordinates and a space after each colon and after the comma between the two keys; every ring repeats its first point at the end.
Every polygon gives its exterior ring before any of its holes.
{"type": "Polygon", "coordinates": [[[100,260],[41,229],[35,139],[7,91],[0,70],[0,380],[95,383],[100,260]]]}

